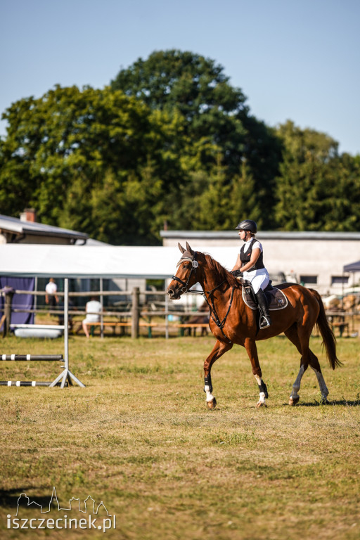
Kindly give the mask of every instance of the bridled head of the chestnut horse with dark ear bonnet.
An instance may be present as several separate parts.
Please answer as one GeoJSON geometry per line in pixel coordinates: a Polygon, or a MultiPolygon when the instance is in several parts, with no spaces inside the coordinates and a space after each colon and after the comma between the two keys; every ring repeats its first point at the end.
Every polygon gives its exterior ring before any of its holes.
{"type": "Polygon", "coordinates": [[[191,249],[187,242],[186,249],[179,244],[179,250],[182,256],[178,264],[176,264],[176,274],[172,276],[172,281],[167,288],[167,294],[172,300],[179,300],[181,295],[187,293],[198,281],[196,278],[196,269],[199,263],[196,260],[196,252],[191,249]]]}

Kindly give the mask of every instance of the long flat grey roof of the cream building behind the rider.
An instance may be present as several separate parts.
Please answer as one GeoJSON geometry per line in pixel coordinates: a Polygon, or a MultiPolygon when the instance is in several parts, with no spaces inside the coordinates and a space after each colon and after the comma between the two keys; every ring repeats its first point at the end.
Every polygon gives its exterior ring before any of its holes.
{"type": "MultiPolygon", "coordinates": [[[[161,238],[184,240],[231,240],[238,238],[238,231],[160,231],[161,238]]],[[[328,231],[257,231],[264,240],[360,240],[360,232],[328,231]]]]}

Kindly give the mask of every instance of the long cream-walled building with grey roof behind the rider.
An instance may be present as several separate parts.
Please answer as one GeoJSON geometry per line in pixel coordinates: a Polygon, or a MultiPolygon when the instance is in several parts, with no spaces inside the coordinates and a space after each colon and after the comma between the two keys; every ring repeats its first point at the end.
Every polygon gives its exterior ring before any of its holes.
{"type": "MultiPolygon", "coordinates": [[[[191,248],[207,251],[215,259],[212,250],[228,248],[233,252],[228,268],[241,248],[236,230],[160,231],[160,236],[164,246],[188,241],[191,248]]],[[[359,283],[360,274],[344,274],[343,266],[360,259],[360,233],[259,231],[257,238],[264,247],[264,264],[274,276],[283,272],[287,281],[304,283],[321,295],[341,293],[359,283]]]]}

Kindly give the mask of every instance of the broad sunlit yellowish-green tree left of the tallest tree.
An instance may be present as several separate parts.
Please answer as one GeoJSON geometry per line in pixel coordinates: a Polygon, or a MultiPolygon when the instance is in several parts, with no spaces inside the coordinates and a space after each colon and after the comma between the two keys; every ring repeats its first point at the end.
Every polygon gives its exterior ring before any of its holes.
{"type": "Polygon", "coordinates": [[[52,224],[58,224],[73,181],[86,197],[106,170],[129,171],[146,161],[153,144],[148,109],[110,89],[56,86],[42,98],[14,103],[3,117],[9,127],[1,145],[0,191],[8,191],[11,172],[25,195],[6,210],[33,205],[52,224]]]}

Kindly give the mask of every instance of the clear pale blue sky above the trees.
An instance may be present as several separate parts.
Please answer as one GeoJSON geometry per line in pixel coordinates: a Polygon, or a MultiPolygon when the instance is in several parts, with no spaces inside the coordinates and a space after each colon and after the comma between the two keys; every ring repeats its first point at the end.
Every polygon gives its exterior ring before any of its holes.
{"type": "Polygon", "coordinates": [[[360,153],[359,0],[0,0],[0,15],[0,113],[55,84],[103,88],[138,58],[180,49],[222,65],[259,120],[360,153]]]}

